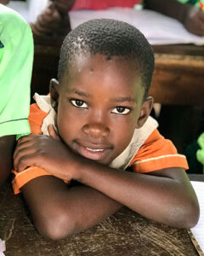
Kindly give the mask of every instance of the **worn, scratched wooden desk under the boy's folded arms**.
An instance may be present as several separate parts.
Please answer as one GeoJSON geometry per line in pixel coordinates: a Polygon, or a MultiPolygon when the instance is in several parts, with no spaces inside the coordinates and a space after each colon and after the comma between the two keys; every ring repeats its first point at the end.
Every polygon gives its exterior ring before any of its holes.
{"type": "Polygon", "coordinates": [[[126,207],[101,224],[60,241],[37,233],[24,201],[8,184],[0,190],[0,209],[0,238],[6,241],[6,256],[198,255],[187,230],[156,224],[126,207]]]}

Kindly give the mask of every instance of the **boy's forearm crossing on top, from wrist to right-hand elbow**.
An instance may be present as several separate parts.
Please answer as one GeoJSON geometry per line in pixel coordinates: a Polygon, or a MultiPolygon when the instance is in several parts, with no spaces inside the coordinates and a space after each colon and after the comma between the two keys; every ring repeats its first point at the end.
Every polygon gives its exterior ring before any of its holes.
{"type": "Polygon", "coordinates": [[[196,196],[182,169],[139,174],[90,163],[83,164],[80,173],[80,182],[146,218],[180,227],[195,225],[197,221],[196,196]],[[183,179],[185,182],[179,182],[183,179]],[[195,204],[192,209],[190,204],[195,204]]]}

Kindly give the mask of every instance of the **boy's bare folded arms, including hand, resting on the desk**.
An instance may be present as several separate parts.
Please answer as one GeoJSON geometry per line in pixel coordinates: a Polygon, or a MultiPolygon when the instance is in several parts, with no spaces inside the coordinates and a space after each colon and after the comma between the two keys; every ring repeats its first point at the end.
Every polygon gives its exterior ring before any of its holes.
{"type": "Polygon", "coordinates": [[[84,159],[60,141],[44,136],[22,138],[15,151],[15,169],[23,171],[30,165],[56,176],[37,177],[22,189],[34,222],[47,235],[52,234],[52,223],[60,233],[54,237],[67,236],[99,223],[121,205],[183,228],[194,226],[199,216],[194,190],[180,168],[147,174],[124,172],[84,159]],[[88,187],[68,189],[57,177],[73,178],[88,187]]]}

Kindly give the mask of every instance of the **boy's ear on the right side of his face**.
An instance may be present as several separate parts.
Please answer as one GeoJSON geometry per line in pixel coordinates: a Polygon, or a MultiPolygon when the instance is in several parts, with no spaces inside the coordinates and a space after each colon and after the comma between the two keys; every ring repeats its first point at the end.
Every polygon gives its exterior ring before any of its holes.
{"type": "Polygon", "coordinates": [[[150,116],[150,112],[153,107],[153,103],[154,103],[154,99],[151,96],[147,97],[144,100],[142,108],[140,110],[139,119],[138,119],[138,122],[136,125],[137,129],[142,127],[144,125],[146,119],[148,119],[148,117],[150,116]]]}

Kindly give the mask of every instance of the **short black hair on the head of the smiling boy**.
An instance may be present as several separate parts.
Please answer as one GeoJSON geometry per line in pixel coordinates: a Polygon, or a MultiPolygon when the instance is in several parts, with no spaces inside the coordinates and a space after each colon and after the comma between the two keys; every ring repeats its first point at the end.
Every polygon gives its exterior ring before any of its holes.
{"type": "Polygon", "coordinates": [[[147,96],[154,70],[154,52],[144,35],[126,22],[111,19],[88,20],[65,37],[60,50],[59,81],[68,73],[69,64],[77,54],[90,53],[137,61],[144,96],[147,96]]]}

